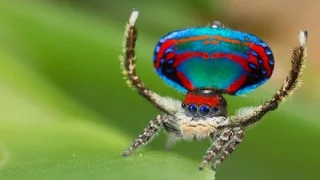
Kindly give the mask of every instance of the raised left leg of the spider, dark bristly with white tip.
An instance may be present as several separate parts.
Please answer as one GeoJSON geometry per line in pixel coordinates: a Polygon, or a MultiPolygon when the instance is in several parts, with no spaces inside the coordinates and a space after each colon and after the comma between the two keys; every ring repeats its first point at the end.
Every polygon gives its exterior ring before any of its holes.
{"type": "Polygon", "coordinates": [[[120,57],[121,67],[123,69],[122,73],[125,75],[125,79],[127,79],[127,84],[129,87],[136,89],[142,97],[146,98],[161,111],[167,114],[174,114],[176,111],[176,104],[178,103],[179,107],[181,102],[168,97],[162,97],[149,90],[145,87],[139,76],[136,74],[135,44],[137,41],[138,31],[135,26],[135,22],[138,18],[138,14],[139,12],[137,10],[132,11],[129,22],[125,29],[123,49],[124,55],[120,57]],[[172,103],[172,101],[177,102],[172,103]]]}

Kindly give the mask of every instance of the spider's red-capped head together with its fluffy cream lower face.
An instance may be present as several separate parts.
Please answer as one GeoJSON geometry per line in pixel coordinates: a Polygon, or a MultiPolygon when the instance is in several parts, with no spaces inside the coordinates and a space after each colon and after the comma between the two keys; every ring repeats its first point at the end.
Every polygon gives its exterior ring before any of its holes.
{"type": "Polygon", "coordinates": [[[164,116],[163,126],[170,133],[171,140],[205,139],[213,135],[218,126],[229,122],[226,100],[213,90],[203,89],[188,92],[181,109],[164,116]]]}

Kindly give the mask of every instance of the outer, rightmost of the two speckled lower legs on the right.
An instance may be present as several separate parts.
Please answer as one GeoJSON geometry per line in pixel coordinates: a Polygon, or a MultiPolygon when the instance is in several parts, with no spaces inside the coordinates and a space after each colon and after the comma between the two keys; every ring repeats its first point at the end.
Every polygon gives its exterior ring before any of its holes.
{"type": "Polygon", "coordinates": [[[237,145],[242,142],[244,137],[244,130],[240,127],[234,128],[233,135],[230,141],[225,145],[222,149],[220,156],[215,160],[215,162],[211,165],[212,170],[216,170],[217,167],[236,149],[237,145]]]}

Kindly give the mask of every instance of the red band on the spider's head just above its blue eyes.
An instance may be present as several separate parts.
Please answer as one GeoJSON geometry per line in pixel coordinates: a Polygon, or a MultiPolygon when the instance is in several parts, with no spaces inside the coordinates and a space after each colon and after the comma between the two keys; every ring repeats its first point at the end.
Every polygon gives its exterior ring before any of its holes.
{"type": "Polygon", "coordinates": [[[190,92],[186,95],[184,104],[196,104],[197,106],[208,105],[210,108],[217,107],[220,104],[220,97],[218,95],[208,96],[201,94],[194,94],[190,92]]]}

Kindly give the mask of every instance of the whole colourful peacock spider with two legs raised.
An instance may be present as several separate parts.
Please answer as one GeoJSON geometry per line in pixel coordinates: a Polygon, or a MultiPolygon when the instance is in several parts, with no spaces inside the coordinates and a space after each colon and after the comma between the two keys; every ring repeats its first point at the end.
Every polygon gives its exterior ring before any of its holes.
{"type": "Polygon", "coordinates": [[[259,106],[244,107],[228,116],[223,94],[242,95],[264,84],[274,69],[273,53],[258,37],[225,27],[218,21],[203,27],[187,28],[162,37],[154,50],[157,74],[170,86],[185,94],[183,101],[163,97],[148,89],[135,70],[135,22],[133,10],[124,35],[121,67],[129,87],[159,109],[162,114],[149,122],[123,156],[129,156],[164,128],[169,134],[167,148],[178,139],[210,139],[199,169],[216,168],[242,142],[245,128],[278,108],[301,84],[307,57],[307,31],[300,31],[300,45],[293,50],[291,70],[271,100],[259,106]]]}

